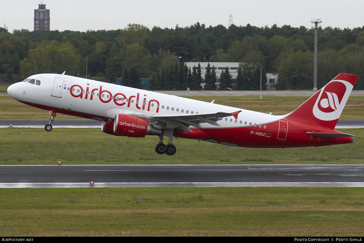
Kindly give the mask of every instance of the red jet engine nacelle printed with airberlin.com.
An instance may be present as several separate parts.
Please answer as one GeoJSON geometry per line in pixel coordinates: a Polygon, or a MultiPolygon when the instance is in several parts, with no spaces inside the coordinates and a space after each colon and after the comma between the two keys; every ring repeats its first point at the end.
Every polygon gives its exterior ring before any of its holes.
{"type": "Polygon", "coordinates": [[[162,130],[151,126],[146,119],[126,114],[116,114],[114,133],[121,136],[144,138],[145,135],[160,135],[162,130]]]}

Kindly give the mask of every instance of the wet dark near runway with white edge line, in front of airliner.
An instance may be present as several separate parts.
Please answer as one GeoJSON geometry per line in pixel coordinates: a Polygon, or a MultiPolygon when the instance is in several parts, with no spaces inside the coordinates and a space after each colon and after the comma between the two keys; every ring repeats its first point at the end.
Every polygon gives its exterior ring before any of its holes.
{"type": "Polygon", "coordinates": [[[2,165],[0,187],[363,187],[364,165],[2,165]]]}

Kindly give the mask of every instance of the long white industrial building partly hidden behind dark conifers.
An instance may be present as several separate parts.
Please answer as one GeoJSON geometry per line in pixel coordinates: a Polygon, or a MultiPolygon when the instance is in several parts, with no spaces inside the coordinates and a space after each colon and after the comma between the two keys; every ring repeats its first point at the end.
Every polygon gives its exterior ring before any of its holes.
{"type": "MultiPolygon", "coordinates": [[[[205,77],[205,73],[206,73],[206,67],[207,67],[207,62],[188,62],[185,63],[187,65],[187,68],[191,68],[191,71],[193,70],[193,66],[198,66],[198,64],[200,64],[201,66],[201,77],[204,78],[205,77]]],[[[239,69],[239,63],[211,63],[210,62],[210,68],[212,68],[214,66],[215,72],[216,72],[216,78],[219,79],[221,72],[225,69],[226,67],[229,68],[229,72],[230,74],[233,76],[233,79],[236,79],[237,75],[238,75],[238,69],[239,69]]],[[[267,76],[267,85],[268,87],[270,85],[277,83],[277,78],[278,75],[276,73],[266,73],[267,76]]]]}

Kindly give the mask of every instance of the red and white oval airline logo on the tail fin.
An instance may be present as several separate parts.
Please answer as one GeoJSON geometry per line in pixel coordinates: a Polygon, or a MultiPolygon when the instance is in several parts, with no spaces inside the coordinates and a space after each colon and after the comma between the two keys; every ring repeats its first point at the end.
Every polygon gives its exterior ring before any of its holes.
{"type": "Polygon", "coordinates": [[[353,85],[344,80],[332,80],[320,91],[313,106],[313,115],[323,121],[339,119],[353,85]]]}

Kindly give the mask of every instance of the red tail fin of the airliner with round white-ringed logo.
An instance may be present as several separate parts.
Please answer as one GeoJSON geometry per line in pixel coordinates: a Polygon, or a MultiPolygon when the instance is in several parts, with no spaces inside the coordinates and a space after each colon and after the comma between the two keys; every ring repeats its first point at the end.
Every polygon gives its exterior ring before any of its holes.
{"type": "Polygon", "coordinates": [[[334,129],[356,82],[357,75],[340,73],[287,118],[310,120],[334,129]]]}

